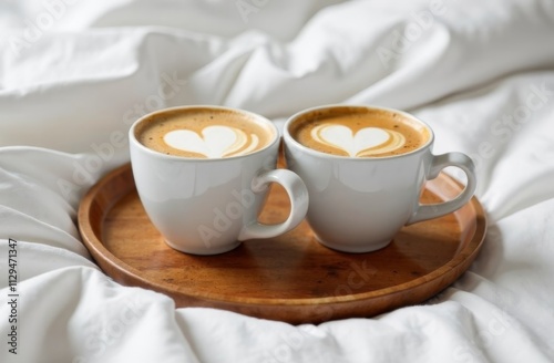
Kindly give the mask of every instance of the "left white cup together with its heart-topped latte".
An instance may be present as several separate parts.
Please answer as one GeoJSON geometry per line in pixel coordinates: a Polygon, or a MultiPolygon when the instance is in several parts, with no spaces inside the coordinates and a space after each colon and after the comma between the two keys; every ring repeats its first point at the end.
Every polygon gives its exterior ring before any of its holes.
{"type": "Polygon", "coordinates": [[[276,169],[279,134],[267,118],[219,106],[166,108],[137,120],[129,132],[138,197],[165,242],[179,251],[216,255],[247,239],[295,228],[308,193],[293,172],[276,169]],[[290,199],[285,221],[258,221],[268,186],[290,199]]]}

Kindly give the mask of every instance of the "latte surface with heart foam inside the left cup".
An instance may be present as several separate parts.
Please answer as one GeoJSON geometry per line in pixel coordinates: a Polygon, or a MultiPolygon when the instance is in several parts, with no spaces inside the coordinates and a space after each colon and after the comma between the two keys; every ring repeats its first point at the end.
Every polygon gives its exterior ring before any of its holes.
{"type": "Polygon", "coordinates": [[[152,114],[135,127],[135,137],[167,155],[225,158],[263,149],[276,134],[247,113],[191,107],[152,114]]]}

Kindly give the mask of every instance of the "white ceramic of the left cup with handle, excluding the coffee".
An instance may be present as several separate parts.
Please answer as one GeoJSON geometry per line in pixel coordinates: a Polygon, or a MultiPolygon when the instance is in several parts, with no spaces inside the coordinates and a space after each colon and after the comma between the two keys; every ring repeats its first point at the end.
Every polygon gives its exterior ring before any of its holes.
{"type": "Polygon", "coordinates": [[[141,201],[153,225],[174,249],[194,255],[226,252],[243,240],[283,235],[295,228],[306,215],[308,194],[302,180],[288,169],[276,169],[280,137],[267,118],[228,107],[174,107],[137,120],[129,137],[133,176],[141,201]],[[271,141],[252,154],[226,158],[165,155],[137,141],[136,126],[145,120],[168,111],[191,111],[194,107],[247,115],[268,126],[271,141]],[[284,222],[263,225],[257,217],[270,183],[285,188],[291,208],[284,222]]]}

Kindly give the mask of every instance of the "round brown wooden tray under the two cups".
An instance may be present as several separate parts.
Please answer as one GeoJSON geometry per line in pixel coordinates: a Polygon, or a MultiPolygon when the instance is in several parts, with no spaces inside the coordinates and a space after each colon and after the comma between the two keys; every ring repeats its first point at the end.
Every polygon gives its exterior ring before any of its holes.
{"type": "MultiPolygon", "coordinates": [[[[437,203],[461,186],[441,174],[422,200],[437,203]]],[[[284,220],[289,203],[271,186],[260,216],[284,220]]],[[[172,297],[177,307],[226,309],[289,323],[372,317],[433,297],[471,265],[486,220],[475,197],[442,218],[404,227],[384,249],[343,253],[319,245],[306,221],[270,240],[249,240],[217,256],[170,248],[150,222],[124,165],[89,190],[79,209],[83,241],[115,281],[172,297]]]]}

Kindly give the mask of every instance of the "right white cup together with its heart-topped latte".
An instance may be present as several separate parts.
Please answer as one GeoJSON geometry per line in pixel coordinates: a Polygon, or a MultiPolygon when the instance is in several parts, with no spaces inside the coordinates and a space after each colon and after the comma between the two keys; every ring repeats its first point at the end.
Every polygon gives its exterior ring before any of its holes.
{"type": "Polygon", "coordinates": [[[392,108],[329,105],[293,115],[284,128],[287,167],[308,188],[306,219],[316,239],[346,252],[388,246],[403,226],[438,218],[475,190],[473,162],[462,153],[433,155],[433,132],[392,108]],[[419,203],[427,180],[448,167],[468,184],[455,198],[419,203]]]}

